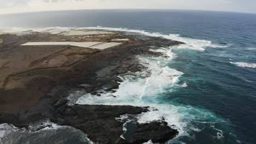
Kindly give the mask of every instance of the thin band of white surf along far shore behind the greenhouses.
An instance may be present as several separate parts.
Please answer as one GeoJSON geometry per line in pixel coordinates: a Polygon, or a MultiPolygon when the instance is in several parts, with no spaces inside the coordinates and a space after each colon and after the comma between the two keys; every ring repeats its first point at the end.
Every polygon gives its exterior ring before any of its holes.
{"type": "Polygon", "coordinates": [[[48,32],[51,34],[60,34],[61,32],[75,32],[76,30],[82,29],[101,29],[107,31],[123,31],[123,32],[130,32],[130,33],[139,33],[148,35],[150,37],[162,37],[170,40],[181,41],[185,43],[184,45],[176,46],[177,49],[190,49],[190,50],[199,50],[204,51],[206,47],[213,47],[213,48],[224,48],[230,47],[230,44],[227,45],[219,45],[213,44],[209,40],[200,40],[200,39],[191,39],[191,38],[184,38],[181,37],[179,34],[161,34],[161,33],[152,33],[147,32],[144,30],[137,30],[137,29],[127,29],[127,28],[111,28],[111,27],[47,27],[47,28],[3,28],[0,29],[1,33],[13,33],[13,34],[28,34],[31,32],[48,32]],[[26,32],[31,31],[31,32],[26,32]]]}

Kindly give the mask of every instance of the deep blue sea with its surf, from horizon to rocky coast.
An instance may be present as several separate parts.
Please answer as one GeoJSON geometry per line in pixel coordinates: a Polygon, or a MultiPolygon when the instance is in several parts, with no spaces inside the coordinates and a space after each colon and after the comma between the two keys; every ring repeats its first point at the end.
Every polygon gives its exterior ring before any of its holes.
{"type": "MultiPolygon", "coordinates": [[[[168,58],[140,57],[142,63],[149,64],[151,76],[122,76],[124,83],[117,92],[118,100],[86,95],[78,103],[88,104],[83,100],[90,98],[90,104],[157,107],[160,113],[149,113],[141,116],[141,120],[162,116],[168,123],[176,124],[180,135],[170,143],[256,143],[256,14],[191,10],[54,11],[0,15],[0,27],[96,27],[183,41],[186,45],[159,47],[168,58]],[[160,74],[159,69],[164,73],[160,74]],[[137,92],[138,87],[143,92],[137,92]]],[[[66,128],[42,132],[40,142],[86,141],[81,131],[72,130],[73,133],[66,128]]],[[[8,139],[25,137],[24,143],[26,139],[38,139],[38,134],[26,137],[28,133],[10,133],[16,135],[9,135],[8,139]]]]}

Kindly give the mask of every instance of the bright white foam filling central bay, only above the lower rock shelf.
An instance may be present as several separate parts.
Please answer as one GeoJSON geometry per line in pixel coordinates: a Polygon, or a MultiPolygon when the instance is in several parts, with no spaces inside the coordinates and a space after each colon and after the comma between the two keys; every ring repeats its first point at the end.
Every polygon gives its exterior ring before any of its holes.
{"type": "MultiPolygon", "coordinates": [[[[167,51],[171,50],[165,49],[165,53],[167,51]]],[[[77,103],[131,105],[130,102],[133,101],[135,103],[132,104],[138,105],[141,104],[143,97],[150,98],[159,93],[165,93],[168,91],[165,88],[174,86],[178,81],[178,77],[183,74],[181,71],[166,66],[170,58],[139,56],[138,59],[141,61],[141,64],[148,67],[146,71],[120,75],[123,82],[121,82],[119,89],[116,89],[117,92],[102,94],[102,97],[86,94],[77,103]],[[114,98],[113,95],[117,98],[114,98]]]]}

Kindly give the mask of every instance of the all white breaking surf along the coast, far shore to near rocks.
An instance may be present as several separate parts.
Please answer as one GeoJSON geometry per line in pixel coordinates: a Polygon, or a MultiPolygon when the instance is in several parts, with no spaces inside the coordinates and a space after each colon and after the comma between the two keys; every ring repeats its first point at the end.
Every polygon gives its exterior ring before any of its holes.
{"type": "MultiPolygon", "coordinates": [[[[54,28],[33,29],[33,31],[43,32],[45,31],[45,29],[54,28]]],[[[211,41],[207,40],[183,38],[177,34],[164,35],[160,33],[151,33],[126,28],[55,27],[55,29],[59,29],[59,31],[52,30],[50,32],[58,33],[71,29],[104,29],[109,31],[139,33],[151,37],[162,37],[165,39],[182,41],[185,44],[174,47],[159,47],[159,49],[151,50],[155,52],[161,52],[163,55],[165,55],[164,57],[138,56],[137,58],[139,59],[141,64],[147,67],[147,69],[137,73],[128,72],[126,74],[119,75],[120,79],[122,79],[123,82],[120,83],[119,89],[115,89],[115,93],[103,93],[101,97],[91,95],[90,93],[85,95],[81,93],[83,95],[81,95],[82,97],[80,97],[76,103],[80,105],[89,104],[150,106],[152,107],[151,111],[144,112],[136,116],[138,122],[149,123],[155,120],[164,119],[170,127],[175,128],[179,131],[179,135],[176,137],[176,139],[172,141],[178,140],[179,137],[183,136],[193,139],[193,132],[198,132],[204,129],[203,127],[198,126],[202,124],[210,124],[212,130],[216,132],[216,135],[212,135],[211,137],[216,137],[216,139],[224,137],[224,135],[220,133],[221,130],[214,127],[216,124],[223,122],[223,120],[218,118],[211,111],[189,105],[174,103],[171,100],[163,101],[162,97],[164,97],[165,95],[170,95],[174,87],[187,87],[187,83],[184,83],[183,85],[177,84],[177,82],[179,81],[179,77],[183,75],[183,72],[167,66],[172,61],[172,59],[176,57],[176,55],[172,52],[173,49],[190,49],[204,51],[206,47],[223,48],[229,47],[230,45],[218,45],[212,44],[211,41]],[[155,111],[155,109],[157,109],[157,111],[155,111]]],[[[74,103],[74,101],[71,102],[74,103]]],[[[170,143],[172,143],[172,141],[170,141],[170,143]]]]}

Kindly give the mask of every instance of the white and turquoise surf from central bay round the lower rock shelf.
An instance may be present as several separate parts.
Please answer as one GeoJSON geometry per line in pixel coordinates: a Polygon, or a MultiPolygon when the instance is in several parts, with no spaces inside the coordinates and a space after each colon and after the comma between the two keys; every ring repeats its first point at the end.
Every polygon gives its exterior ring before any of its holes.
{"type": "MultiPolygon", "coordinates": [[[[170,127],[179,131],[176,139],[183,136],[191,137],[193,131],[201,130],[192,123],[219,123],[220,119],[210,111],[160,100],[161,95],[171,93],[173,87],[181,87],[177,82],[183,73],[167,67],[167,64],[176,57],[172,48],[161,47],[152,51],[161,52],[164,57],[138,56],[139,62],[147,67],[146,70],[119,75],[123,82],[120,83],[119,89],[115,89],[115,93],[103,93],[101,97],[90,93],[81,95],[77,104],[150,106],[149,112],[133,117],[136,117],[138,123],[150,123],[164,119],[170,127]]],[[[129,122],[129,115],[126,114],[117,119],[129,122]]],[[[123,130],[125,133],[125,124],[123,130]]],[[[123,135],[120,137],[123,138],[123,135]]]]}

